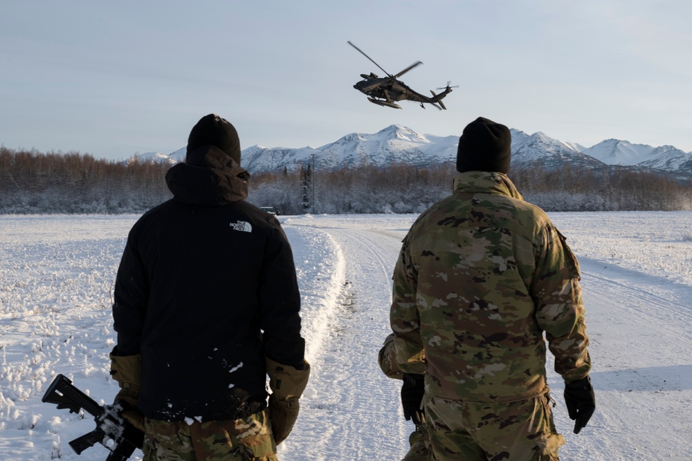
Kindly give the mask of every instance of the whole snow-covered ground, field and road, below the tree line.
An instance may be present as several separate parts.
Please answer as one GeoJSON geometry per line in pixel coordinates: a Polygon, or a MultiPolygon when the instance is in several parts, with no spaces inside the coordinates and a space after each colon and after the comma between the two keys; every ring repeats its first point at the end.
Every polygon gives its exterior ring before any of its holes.
{"type": "MultiPolygon", "coordinates": [[[[572,433],[561,379],[561,459],[692,460],[692,213],[554,213],[579,257],[597,411],[572,433]]],[[[0,216],[0,460],[103,460],[70,440],[88,415],[43,404],[62,373],[100,403],[113,279],[137,216],[0,216]]],[[[377,352],[391,274],[413,215],[281,216],[302,292],[311,382],[281,461],[398,460],[413,427],[377,352]]],[[[140,451],[135,452],[140,459],[140,451]]]]}

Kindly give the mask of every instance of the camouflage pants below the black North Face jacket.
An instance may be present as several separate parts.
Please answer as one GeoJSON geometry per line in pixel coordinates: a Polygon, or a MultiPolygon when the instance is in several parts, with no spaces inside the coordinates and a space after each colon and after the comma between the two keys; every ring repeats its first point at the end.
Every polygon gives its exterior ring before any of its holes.
{"type": "Polygon", "coordinates": [[[240,420],[145,420],[143,461],[277,461],[266,412],[240,420]]]}

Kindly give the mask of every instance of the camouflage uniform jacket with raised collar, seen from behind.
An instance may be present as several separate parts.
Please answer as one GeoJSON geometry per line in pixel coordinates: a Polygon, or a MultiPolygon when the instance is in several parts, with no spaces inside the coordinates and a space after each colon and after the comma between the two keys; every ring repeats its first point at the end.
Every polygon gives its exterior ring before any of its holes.
{"type": "Polygon", "coordinates": [[[502,173],[455,176],[412,225],[394,270],[399,368],[433,397],[512,402],[549,391],[545,341],[566,382],[591,361],[579,265],[540,208],[502,173]]]}

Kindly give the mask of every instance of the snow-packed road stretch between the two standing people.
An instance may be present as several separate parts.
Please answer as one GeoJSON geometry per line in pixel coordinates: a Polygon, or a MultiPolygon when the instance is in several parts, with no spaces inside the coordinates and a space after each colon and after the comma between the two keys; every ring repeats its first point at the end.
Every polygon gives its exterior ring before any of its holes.
{"type": "Polygon", "coordinates": [[[399,409],[400,383],[377,365],[389,333],[391,275],[401,237],[338,226],[320,232],[329,234],[345,257],[345,283],[331,335],[314,359],[312,389],[301,400],[298,424],[301,434],[306,426],[314,428],[311,440],[291,441],[279,455],[286,461],[401,459],[413,425],[399,409]],[[302,450],[294,451],[298,447],[302,450]]]}

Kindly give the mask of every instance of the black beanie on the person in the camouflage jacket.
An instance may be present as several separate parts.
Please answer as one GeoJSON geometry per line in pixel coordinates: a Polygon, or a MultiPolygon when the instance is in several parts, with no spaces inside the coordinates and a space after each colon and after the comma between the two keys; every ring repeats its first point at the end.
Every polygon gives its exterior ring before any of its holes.
{"type": "Polygon", "coordinates": [[[509,173],[509,128],[484,117],[466,125],[457,149],[457,171],[499,171],[509,173]]]}

